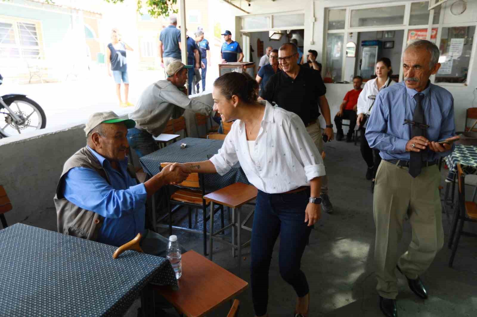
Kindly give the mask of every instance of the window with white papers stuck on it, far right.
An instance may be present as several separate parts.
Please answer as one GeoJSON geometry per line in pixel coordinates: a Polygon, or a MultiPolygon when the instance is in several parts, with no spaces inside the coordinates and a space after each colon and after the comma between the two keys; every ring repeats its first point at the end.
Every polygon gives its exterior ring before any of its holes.
{"type": "Polygon", "coordinates": [[[466,82],[475,31],[475,26],[442,28],[436,82],[466,82]]]}

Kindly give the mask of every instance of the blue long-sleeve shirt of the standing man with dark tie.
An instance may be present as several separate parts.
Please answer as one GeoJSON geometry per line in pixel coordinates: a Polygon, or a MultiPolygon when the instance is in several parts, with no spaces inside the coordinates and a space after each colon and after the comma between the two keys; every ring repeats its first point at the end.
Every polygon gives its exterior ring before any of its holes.
{"type": "MultiPolygon", "coordinates": [[[[404,119],[413,121],[416,101],[415,89],[409,89],[404,81],[381,90],[376,96],[371,116],[366,127],[366,139],[371,148],[379,149],[383,159],[401,159],[409,161],[406,143],[411,139],[412,126],[404,124],[404,119]]],[[[424,94],[422,107],[425,138],[430,141],[442,141],[456,134],[454,124],[454,98],[446,89],[429,84],[421,93],[424,94]]],[[[436,153],[427,150],[427,160],[433,161],[449,155],[455,148],[436,153]]]]}

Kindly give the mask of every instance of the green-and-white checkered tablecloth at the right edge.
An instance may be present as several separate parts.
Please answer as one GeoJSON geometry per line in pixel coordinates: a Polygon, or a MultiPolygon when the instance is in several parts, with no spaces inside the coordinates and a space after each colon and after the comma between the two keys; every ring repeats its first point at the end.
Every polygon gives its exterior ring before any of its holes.
{"type": "Polygon", "coordinates": [[[477,174],[477,146],[456,145],[456,149],[445,158],[449,174],[446,182],[453,182],[457,173],[457,163],[460,163],[462,171],[466,175],[477,174]]]}

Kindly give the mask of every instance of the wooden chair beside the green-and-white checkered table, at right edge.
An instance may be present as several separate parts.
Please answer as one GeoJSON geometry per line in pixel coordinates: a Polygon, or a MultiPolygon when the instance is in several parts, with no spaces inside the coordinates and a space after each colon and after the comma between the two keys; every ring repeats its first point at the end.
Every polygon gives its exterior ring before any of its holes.
{"type": "Polygon", "coordinates": [[[465,183],[464,179],[466,175],[462,171],[460,163],[457,164],[457,184],[459,189],[458,203],[454,213],[454,220],[452,223],[452,229],[449,237],[448,247],[452,247],[452,254],[449,259],[449,267],[452,267],[454,257],[456,256],[457,246],[459,245],[459,239],[461,235],[469,237],[477,237],[475,233],[464,232],[464,222],[477,222],[477,204],[473,201],[466,201],[465,183]],[[457,230],[457,231],[456,231],[457,230]],[[454,241],[454,235],[456,240],[454,241]]]}

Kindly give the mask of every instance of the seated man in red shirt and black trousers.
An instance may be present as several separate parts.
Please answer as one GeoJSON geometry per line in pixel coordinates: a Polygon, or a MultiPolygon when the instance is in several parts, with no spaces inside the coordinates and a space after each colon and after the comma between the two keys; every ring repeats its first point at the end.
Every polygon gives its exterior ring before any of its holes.
{"type": "Polygon", "coordinates": [[[343,102],[340,105],[340,111],[334,117],[334,124],[336,125],[337,133],[336,140],[341,141],[344,137],[342,129],[342,120],[350,120],[350,129],[346,135],[346,142],[351,142],[351,137],[354,133],[354,126],[356,125],[356,106],[358,103],[358,96],[363,90],[361,85],[363,84],[363,78],[361,76],[353,77],[353,90],[350,90],[344,96],[343,102]]]}

